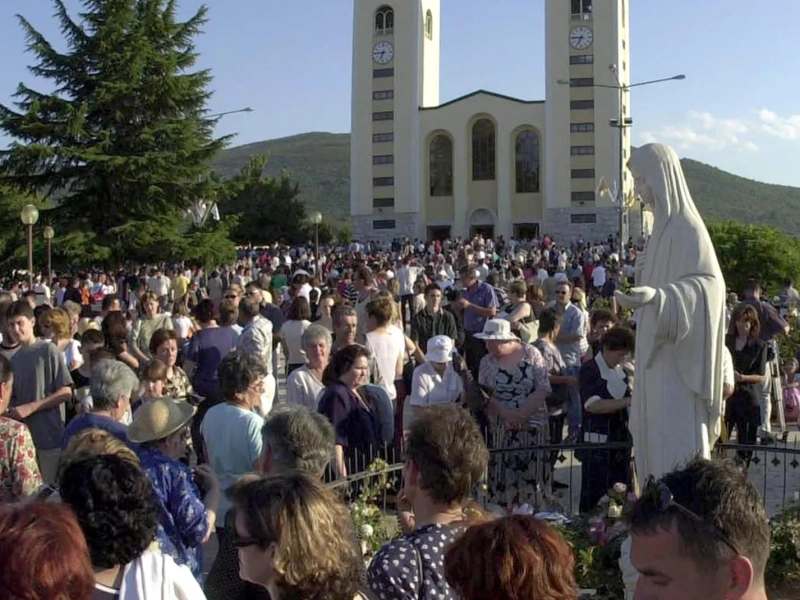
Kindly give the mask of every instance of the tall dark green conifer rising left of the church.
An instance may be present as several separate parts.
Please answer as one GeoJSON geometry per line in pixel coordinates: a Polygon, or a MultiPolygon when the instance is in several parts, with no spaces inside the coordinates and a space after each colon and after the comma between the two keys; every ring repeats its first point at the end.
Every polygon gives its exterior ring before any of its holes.
{"type": "Polygon", "coordinates": [[[179,22],[177,0],[83,0],[75,20],[53,3],[63,53],[18,17],[30,70],[55,92],[20,84],[16,110],[0,105],[0,130],[15,140],[0,174],[55,198],[57,234],[79,235],[98,257],[145,258],[135,232],[147,231],[149,248],[180,259],[181,215],[213,194],[207,164],[229,141],[205,117],[211,74],[193,70],[206,8],[179,22]]]}

